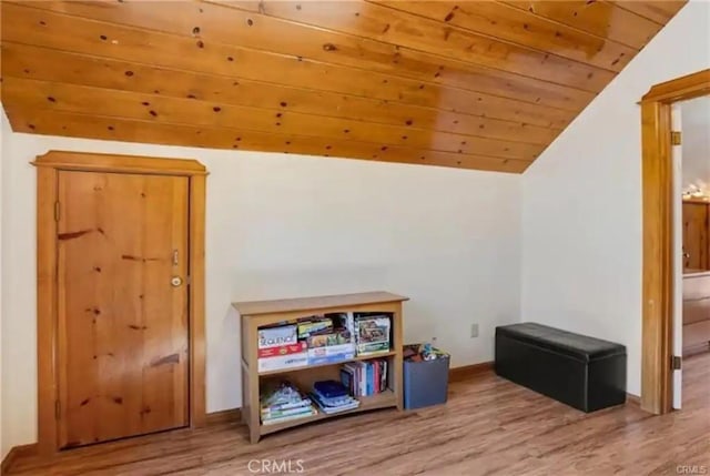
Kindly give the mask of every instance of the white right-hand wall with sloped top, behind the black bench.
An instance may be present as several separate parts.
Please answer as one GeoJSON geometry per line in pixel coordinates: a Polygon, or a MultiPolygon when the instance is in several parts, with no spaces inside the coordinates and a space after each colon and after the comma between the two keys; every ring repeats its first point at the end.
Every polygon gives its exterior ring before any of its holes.
{"type": "Polygon", "coordinates": [[[710,67],[710,3],[690,2],[526,171],[521,318],[620,342],[640,393],[641,121],[659,82],[710,67]]]}

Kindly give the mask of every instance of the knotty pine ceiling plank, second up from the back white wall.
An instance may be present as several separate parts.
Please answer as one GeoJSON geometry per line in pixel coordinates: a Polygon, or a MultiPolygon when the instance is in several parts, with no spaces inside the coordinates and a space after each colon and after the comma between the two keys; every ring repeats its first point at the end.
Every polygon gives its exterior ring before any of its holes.
{"type": "MultiPolygon", "coordinates": [[[[180,124],[191,118],[192,125],[229,128],[245,122],[254,131],[268,132],[276,125],[284,134],[316,135],[346,141],[410,145],[425,150],[477,153],[504,159],[534,160],[541,145],[504,142],[487,138],[450,134],[406,126],[394,126],[344,121],[294,112],[274,112],[265,109],[216,105],[190,99],[151,97],[116,92],[97,88],[72,87],[62,83],[6,78],[8,108],[23,104],[32,109],[90,114],[95,104],[103,104],[105,115],[180,124]],[[50,98],[50,100],[48,100],[50,98]],[[216,118],[215,118],[216,117],[216,118]]],[[[190,124],[185,124],[190,125],[190,124]]],[[[478,132],[478,131],[474,131],[478,132]]]]}

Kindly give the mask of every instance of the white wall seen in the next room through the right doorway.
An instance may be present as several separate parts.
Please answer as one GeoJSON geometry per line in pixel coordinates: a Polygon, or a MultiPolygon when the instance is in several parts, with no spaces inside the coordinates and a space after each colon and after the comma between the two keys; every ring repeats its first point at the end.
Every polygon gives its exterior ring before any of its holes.
{"type": "Polygon", "coordinates": [[[682,186],[710,194],[710,97],[680,103],[682,118],[682,186]]]}

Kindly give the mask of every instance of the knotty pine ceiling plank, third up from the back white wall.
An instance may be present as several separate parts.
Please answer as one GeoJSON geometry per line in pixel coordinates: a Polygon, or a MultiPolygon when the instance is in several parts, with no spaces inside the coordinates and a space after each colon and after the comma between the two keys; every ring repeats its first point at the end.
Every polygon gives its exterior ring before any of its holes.
{"type": "Polygon", "coordinates": [[[521,142],[538,144],[549,143],[566,123],[556,121],[555,124],[550,124],[535,114],[532,108],[529,112],[516,110],[510,111],[509,118],[496,119],[496,115],[506,115],[506,111],[488,107],[485,101],[478,101],[481,105],[476,111],[477,114],[484,115],[473,115],[241,78],[235,81],[233,78],[220,75],[194,74],[126,61],[50,52],[43,48],[12,42],[6,42],[3,51],[2,70],[6,77],[84,84],[160,97],[190,98],[212,101],[215,104],[258,107],[275,112],[293,111],[434,131],[476,133],[497,139],[517,138],[521,142]],[[63,68],[63,64],[72,64],[72,68],[63,68]],[[133,72],[130,77],[125,75],[125,71],[129,70],[133,72]]]}

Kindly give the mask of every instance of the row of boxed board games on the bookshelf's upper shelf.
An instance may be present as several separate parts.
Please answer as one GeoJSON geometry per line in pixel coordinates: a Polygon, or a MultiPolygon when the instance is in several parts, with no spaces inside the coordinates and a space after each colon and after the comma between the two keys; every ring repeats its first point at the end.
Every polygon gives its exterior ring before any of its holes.
{"type": "Polygon", "coordinates": [[[258,372],[349,361],[390,348],[392,314],[329,313],[258,330],[258,372]]]}

